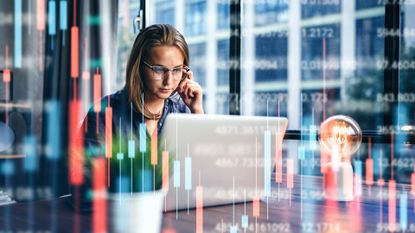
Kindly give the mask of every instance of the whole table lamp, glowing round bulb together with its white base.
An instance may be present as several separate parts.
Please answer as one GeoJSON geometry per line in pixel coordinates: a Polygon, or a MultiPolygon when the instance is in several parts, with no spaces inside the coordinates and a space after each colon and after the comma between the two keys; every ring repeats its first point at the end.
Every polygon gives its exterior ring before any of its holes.
{"type": "Polygon", "coordinates": [[[324,174],[326,199],[353,200],[353,168],[351,155],[362,143],[362,130],[349,116],[336,115],[325,120],[318,136],[322,150],[331,155],[324,174]]]}

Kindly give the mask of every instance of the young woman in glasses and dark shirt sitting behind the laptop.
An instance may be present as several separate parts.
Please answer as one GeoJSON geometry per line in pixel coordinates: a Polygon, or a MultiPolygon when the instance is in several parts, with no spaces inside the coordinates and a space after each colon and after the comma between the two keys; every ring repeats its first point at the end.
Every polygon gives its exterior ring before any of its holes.
{"type": "MultiPolygon", "coordinates": [[[[95,103],[101,105],[101,111],[97,114],[91,109],[83,122],[86,168],[83,174],[85,182],[79,190],[81,208],[85,210],[84,207],[90,207],[84,204],[91,201],[87,195],[92,188],[91,160],[93,157],[103,157],[108,152],[106,129],[112,129],[112,157],[116,157],[119,150],[124,153],[127,161],[128,140],[135,141],[136,154],[137,157],[140,156],[139,136],[143,133],[140,133],[140,124],[145,123],[149,148],[151,136],[155,131],[159,133],[162,130],[168,114],[203,114],[202,96],[202,88],[193,80],[193,73],[189,69],[189,48],[183,35],[174,27],[164,24],[143,29],[135,39],[128,59],[124,88],[95,103]],[[106,119],[107,108],[112,109],[112,122],[106,119]]],[[[149,149],[146,153],[148,152],[149,149]]],[[[146,156],[146,159],[148,158],[149,156],[146,156]]],[[[141,159],[136,161],[133,188],[134,191],[140,191],[136,186],[144,184],[138,184],[136,181],[142,180],[142,164],[141,159]]],[[[115,166],[114,163],[117,163],[116,158],[110,160],[110,191],[117,191],[118,187],[121,187],[118,185],[121,181],[116,178],[119,174],[118,165],[115,166]]],[[[149,162],[145,163],[147,167],[149,162]]],[[[153,183],[147,178],[146,181],[153,183]]]]}

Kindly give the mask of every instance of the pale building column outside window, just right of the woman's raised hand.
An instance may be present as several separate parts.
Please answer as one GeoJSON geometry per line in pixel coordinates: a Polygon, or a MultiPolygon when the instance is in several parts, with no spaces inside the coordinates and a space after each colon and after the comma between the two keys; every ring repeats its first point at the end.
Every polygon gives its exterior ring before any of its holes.
{"type": "Polygon", "coordinates": [[[217,92],[217,38],[216,35],[216,0],[207,1],[207,35],[206,36],[206,112],[210,114],[216,113],[216,92],[217,92]]]}

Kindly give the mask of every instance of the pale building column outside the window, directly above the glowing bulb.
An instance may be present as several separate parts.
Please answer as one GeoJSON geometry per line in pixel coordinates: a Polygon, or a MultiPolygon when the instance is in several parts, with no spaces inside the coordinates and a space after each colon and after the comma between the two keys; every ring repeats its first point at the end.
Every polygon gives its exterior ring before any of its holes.
{"type": "Polygon", "coordinates": [[[356,17],[355,5],[356,0],[341,1],[342,3],[342,20],[340,33],[340,97],[345,101],[346,96],[346,79],[351,77],[354,72],[355,63],[355,43],[356,43],[356,17]]]}

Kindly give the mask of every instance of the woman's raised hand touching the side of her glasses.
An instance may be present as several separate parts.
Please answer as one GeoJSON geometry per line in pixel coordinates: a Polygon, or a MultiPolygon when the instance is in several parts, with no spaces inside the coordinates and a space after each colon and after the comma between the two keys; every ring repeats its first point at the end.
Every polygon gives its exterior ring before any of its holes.
{"type": "Polygon", "coordinates": [[[182,97],[183,102],[190,108],[192,113],[203,114],[203,91],[202,87],[193,81],[193,72],[189,70],[177,86],[177,92],[182,97]]]}

